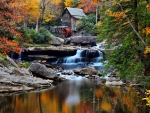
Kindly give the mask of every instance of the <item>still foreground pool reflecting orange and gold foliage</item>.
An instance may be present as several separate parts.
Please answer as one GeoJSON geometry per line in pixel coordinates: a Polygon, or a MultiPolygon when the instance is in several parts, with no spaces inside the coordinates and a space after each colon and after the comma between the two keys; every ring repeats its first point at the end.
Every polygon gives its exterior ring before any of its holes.
{"type": "Polygon", "coordinates": [[[130,87],[95,86],[69,80],[51,90],[0,98],[0,113],[148,113],[130,87]]]}

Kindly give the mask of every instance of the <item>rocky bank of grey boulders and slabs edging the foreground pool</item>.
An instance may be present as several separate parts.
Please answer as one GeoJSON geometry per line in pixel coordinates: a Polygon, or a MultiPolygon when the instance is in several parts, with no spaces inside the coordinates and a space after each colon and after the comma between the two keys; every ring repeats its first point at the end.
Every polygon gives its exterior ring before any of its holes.
{"type": "Polygon", "coordinates": [[[46,67],[40,63],[32,63],[26,69],[19,67],[16,62],[6,57],[1,58],[0,63],[0,95],[53,88],[63,80],[74,79],[78,76],[93,79],[97,85],[105,83],[106,85],[124,85],[118,79],[115,80],[118,82],[114,83],[114,78],[111,80],[101,78],[100,72],[94,67],[67,71],[61,67],[53,69],[48,65],[46,67]]]}

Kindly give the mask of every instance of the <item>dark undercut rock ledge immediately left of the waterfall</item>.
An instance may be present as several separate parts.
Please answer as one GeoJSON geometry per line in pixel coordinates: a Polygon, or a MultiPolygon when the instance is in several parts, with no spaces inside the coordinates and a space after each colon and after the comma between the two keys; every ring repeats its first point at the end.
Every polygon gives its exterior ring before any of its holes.
{"type": "MultiPolygon", "coordinates": [[[[50,46],[50,47],[28,47],[23,49],[21,53],[21,60],[48,60],[53,61],[58,57],[73,56],[76,54],[75,47],[67,46],[50,46]]],[[[18,59],[19,55],[13,54],[13,59],[18,59]]]]}

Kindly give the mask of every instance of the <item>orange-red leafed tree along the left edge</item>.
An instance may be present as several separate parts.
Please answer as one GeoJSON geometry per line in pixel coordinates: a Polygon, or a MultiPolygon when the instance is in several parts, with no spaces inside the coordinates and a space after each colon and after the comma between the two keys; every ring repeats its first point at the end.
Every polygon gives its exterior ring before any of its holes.
{"type": "Polygon", "coordinates": [[[21,34],[15,29],[18,21],[19,10],[15,7],[15,2],[19,0],[1,0],[0,1],[0,53],[8,54],[10,51],[19,53],[18,42],[13,41],[14,37],[21,37],[21,34]]]}

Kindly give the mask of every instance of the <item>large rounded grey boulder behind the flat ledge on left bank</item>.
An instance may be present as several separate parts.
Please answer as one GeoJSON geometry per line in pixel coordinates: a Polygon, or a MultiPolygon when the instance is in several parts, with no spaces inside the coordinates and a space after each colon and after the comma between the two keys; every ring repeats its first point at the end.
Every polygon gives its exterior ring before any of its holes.
{"type": "Polygon", "coordinates": [[[48,69],[40,63],[32,63],[29,70],[42,78],[55,79],[57,77],[53,69],[48,69]]]}

